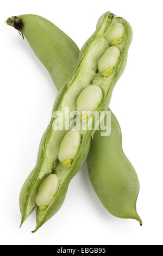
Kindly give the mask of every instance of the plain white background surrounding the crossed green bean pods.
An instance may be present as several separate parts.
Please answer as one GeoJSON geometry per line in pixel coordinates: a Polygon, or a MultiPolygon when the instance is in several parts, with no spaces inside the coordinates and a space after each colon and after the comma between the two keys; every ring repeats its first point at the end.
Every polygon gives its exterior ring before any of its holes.
{"type": "Polygon", "coordinates": [[[2,245],[163,244],[162,1],[3,1],[1,32],[1,232],[2,245]],[[109,214],[91,186],[86,164],[73,178],[58,213],[35,234],[35,211],[19,229],[18,197],[33,169],[57,89],[28,42],[4,21],[12,15],[46,17],[79,46],[110,10],[129,21],[133,42],[110,107],[120,122],[123,149],[140,180],[137,211],[143,226],[109,214]]]}

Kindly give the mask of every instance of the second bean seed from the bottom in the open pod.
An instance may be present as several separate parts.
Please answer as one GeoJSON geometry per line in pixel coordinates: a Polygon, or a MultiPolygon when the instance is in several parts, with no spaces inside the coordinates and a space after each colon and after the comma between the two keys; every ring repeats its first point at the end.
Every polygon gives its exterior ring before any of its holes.
{"type": "Polygon", "coordinates": [[[76,130],[68,131],[62,139],[58,159],[66,169],[71,167],[71,163],[78,153],[80,142],[80,133],[76,130]]]}

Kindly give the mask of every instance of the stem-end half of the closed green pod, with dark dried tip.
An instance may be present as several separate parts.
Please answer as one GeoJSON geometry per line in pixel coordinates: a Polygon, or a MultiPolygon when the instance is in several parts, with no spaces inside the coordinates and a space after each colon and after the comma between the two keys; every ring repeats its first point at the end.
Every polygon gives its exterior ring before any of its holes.
{"type": "Polygon", "coordinates": [[[6,22],[26,37],[55,86],[60,89],[76,67],[79,57],[77,45],[52,22],[37,15],[12,16],[6,22]]]}

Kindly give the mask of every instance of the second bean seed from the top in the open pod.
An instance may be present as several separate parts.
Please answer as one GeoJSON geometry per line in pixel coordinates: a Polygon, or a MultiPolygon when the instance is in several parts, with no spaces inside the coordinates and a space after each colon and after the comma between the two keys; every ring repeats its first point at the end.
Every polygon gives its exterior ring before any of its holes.
{"type": "Polygon", "coordinates": [[[117,65],[121,52],[116,46],[109,47],[103,56],[98,60],[98,70],[103,76],[112,75],[112,71],[117,65]]]}

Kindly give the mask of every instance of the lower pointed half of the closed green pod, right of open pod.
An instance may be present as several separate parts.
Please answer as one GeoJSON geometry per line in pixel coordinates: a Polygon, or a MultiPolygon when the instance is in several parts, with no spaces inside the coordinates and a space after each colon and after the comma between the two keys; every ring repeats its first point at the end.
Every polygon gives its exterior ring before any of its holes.
{"type": "Polygon", "coordinates": [[[105,208],[116,217],[133,218],[142,225],[136,212],[139,180],[123,153],[121,128],[113,113],[110,136],[102,137],[99,130],[91,140],[87,168],[92,186],[105,208]]]}

